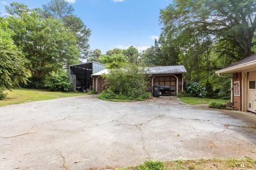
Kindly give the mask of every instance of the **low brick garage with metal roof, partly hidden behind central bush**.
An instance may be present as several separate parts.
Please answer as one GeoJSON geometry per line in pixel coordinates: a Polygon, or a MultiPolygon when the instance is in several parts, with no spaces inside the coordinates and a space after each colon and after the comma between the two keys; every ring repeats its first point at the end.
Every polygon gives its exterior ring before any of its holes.
{"type": "MultiPolygon", "coordinates": [[[[149,84],[151,87],[154,85],[169,86],[172,91],[170,95],[177,95],[183,91],[183,74],[187,73],[183,65],[147,67],[145,70],[150,75],[149,84]]],[[[97,93],[104,90],[102,74],[108,74],[108,72],[109,70],[105,69],[91,75],[93,89],[97,93]]]]}

